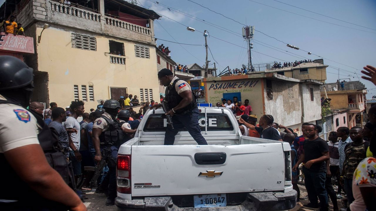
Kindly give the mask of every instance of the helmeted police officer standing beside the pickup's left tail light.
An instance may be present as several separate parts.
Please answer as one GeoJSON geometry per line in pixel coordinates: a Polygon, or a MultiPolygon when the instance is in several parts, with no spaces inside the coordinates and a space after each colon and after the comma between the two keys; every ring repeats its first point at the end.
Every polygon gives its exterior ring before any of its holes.
{"type": "Polygon", "coordinates": [[[116,159],[118,152],[116,145],[123,141],[124,138],[121,124],[116,119],[120,103],[117,100],[108,99],[103,103],[103,109],[105,113],[93,123],[92,136],[94,149],[96,150],[94,160],[100,163],[103,158],[108,165],[109,172],[98,189],[103,191],[108,189],[106,205],[115,205],[117,196],[116,159]]]}

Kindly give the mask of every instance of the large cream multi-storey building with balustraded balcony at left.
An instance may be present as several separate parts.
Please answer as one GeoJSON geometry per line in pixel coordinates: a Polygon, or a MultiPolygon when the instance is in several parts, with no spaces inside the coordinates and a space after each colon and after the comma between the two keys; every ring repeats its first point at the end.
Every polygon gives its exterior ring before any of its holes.
{"type": "Polygon", "coordinates": [[[64,107],[80,99],[89,110],[125,93],[159,99],[154,11],[123,0],[16,3],[6,5],[6,17],[15,15],[35,39],[36,54],[26,57],[35,71],[33,101],[64,107]]]}

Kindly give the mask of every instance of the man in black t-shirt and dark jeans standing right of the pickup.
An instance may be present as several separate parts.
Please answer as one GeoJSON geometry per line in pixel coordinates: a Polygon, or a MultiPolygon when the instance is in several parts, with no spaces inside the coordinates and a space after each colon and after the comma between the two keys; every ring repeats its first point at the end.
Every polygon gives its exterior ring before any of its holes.
{"type": "Polygon", "coordinates": [[[296,171],[302,162],[305,163],[303,166],[304,181],[310,202],[302,207],[318,209],[318,197],[320,199],[320,210],[327,211],[329,205],[325,189],[325,161],[329,159],[329,147],[324,139],[317,136],[316,125],[305,125],[305,133],[308,139],[304,142],[303,154],[300,155],[299,160],[293,167],[293,171],[296,171]]]}

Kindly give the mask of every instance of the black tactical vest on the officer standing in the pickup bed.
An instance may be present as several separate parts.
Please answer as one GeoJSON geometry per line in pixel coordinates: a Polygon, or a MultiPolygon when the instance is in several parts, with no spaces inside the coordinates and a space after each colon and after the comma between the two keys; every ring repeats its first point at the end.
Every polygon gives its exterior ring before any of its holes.
{"type": "MultiPolygon", "coordinates": [[[[176,107],[179,104],[179,102],[182,101],[182,99],[183,99],[177,93],[177,91],[175,89],[175,84],[179,80],[181,80],[181,79],[177,78],[176,80],[174,80],[174,83],[172,84],[172,86],[167,86],[166,87],[166,92],[165,92],[166,97],[165,97],[165,100],[167,102],[167,105],[168,105],[169,109],[173,109],[174,107],[176,107]]],[[[185,81],[185,83],[188,83],[188,82],[185,81]]],[[[175,113],[177,115],[191,114],[192,113],[192,109],[194,109],[194,108],[197,108],[197,97],[192,92],[192,102],[190,102],[190,104],[188,104],[186,107],[184,107],[182,109],[179,109],[179,110],[176,110],[175,113]]]]}

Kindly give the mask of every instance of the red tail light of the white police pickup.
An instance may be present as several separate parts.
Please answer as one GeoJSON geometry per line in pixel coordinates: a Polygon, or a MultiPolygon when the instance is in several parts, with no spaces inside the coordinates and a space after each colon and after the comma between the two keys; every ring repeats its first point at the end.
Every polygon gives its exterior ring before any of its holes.
{"type": "Polygon", "coordinates": [[[116,170],[117,191],[131,194],[130,155],[118,155],[116,170]]]}

